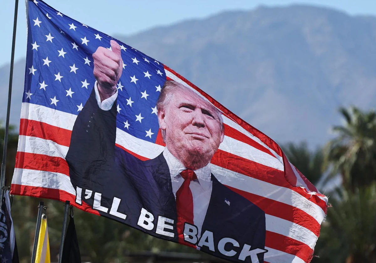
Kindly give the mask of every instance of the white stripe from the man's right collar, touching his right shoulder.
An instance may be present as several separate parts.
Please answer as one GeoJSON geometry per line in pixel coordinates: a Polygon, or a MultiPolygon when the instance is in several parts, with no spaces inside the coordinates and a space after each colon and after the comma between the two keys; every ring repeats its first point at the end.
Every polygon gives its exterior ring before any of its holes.
{"type": "Polygon", "coordinates": [[[211,164],[211,169],[218,181],[227,186],[297,207],[311,215],[319,224],[324,219],[325,213],[320,206],[291,189],[276,186],[217,165],[211,164]]]}

